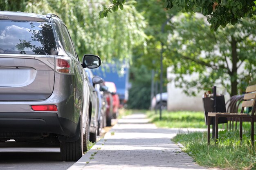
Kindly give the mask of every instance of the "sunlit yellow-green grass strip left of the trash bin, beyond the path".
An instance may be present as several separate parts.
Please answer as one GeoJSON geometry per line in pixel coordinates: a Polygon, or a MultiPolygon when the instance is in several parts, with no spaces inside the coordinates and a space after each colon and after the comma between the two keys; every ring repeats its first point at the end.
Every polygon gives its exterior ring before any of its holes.
{"type": "Polygon", "coordinates": [[[162,120],[159,120],[159,114],[155,114],[154,111],[148,111],[146,114],[150,122],[160,128],[207,128],[202,112],[168,112],[164,110],[162,120]]]}

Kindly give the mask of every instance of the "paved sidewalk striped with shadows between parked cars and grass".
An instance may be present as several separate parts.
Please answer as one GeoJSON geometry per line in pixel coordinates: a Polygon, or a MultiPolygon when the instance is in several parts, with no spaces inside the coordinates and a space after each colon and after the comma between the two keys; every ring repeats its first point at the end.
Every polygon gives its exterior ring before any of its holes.
{"type": "Polygon", "coordinates": [[[208,170],[171,141],[178,131],[126,116],[68,170],[208,170]]]}

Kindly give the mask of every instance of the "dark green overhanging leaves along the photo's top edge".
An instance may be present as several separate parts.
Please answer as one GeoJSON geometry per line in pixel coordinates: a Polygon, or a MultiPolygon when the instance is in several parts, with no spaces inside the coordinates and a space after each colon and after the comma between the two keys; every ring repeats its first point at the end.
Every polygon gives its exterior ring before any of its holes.
{"type": "MultiPolygon", "coordinates": [[[[213,30],[221,25],[235,24],[240,18],[256,13],[255,0],[164,0],[164,8],[177,11],[200,12],[208,17],[213,30]]],[[[100,17],[107,17],[108,12],[124,9],[125,0],[113,0],[113,4],[100,11],[100,17]]]]}

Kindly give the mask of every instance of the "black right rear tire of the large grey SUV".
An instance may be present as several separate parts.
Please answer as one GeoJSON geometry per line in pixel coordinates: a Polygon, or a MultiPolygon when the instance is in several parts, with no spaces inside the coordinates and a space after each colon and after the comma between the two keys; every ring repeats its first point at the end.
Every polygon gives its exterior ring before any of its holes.
{"type": "Polygon", "coordinates": [[[83,132],[82,121],[80,121],[80,137],[74,142],[61,142],[62,161],[78,161],[83,156],[83,132]]]}

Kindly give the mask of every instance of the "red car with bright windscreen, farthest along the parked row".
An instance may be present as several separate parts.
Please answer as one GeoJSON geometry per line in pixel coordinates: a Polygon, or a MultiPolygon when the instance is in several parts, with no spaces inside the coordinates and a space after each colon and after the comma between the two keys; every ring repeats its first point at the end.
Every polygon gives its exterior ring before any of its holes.
{"type": "Polygon", "coordinates": [[[116,119],[118,116],[118,108],[119,108],[119,96],[117,94],[117,88],[114,82],[105,82],[105,85],[108,87],[108,91],[112,94],[113,98],[113,118],[116,119]]]}

